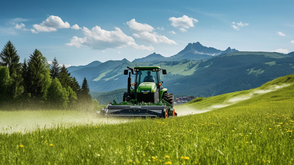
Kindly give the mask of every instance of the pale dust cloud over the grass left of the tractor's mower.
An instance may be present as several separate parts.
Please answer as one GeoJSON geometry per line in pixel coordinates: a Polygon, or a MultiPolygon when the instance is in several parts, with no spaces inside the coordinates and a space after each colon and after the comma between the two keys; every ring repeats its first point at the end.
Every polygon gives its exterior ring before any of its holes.
{"type": "Polygon", "coordinates": [[[0,133],[32,132],[36,129],[103,125],[128,122],[131,119],[109,118],[96,113],[66,110],[0,111],[0,133]]]}

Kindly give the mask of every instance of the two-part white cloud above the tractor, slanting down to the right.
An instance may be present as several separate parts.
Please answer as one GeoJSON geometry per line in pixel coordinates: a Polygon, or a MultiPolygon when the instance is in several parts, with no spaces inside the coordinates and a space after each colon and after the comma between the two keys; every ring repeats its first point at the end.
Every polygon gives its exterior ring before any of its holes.
{"type": "Polygon", "coordinates": [[[170,40],[168,39],[168,37],[164,35],[160,35],[157,32],[153,32],[154,28],[148,24],[142,24],[142,23],[136,22],[135,19],[132,19],[129,22],[126,22],[126,24],[129,25],[131,30],[138,32],[138,33],[133,33],[134,37],[139,38],[140,40],[143,40],[145,42],[177,44],[174,40],[170,40]]]}

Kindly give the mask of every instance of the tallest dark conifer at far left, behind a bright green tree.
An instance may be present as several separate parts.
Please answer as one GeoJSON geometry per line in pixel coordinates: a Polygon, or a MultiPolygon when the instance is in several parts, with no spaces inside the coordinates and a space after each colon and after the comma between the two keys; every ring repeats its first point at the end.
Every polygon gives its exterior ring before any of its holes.
{"type": "Polygon", "coordinates": [[[23,79],[21,78],[21,63],[19,63],[19,58],[15,46],[9,40],[0,52],[0,66],[6,66],[9,69],[9,76],[11,78],[9,95],[13,98],[17,98],[24,91],[21,85],[23,79]]]}

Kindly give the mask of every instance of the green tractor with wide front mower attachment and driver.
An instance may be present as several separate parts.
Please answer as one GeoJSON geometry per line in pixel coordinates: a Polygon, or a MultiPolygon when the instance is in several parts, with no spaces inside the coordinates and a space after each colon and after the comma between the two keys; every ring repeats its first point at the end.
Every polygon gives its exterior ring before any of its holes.
{"type": "Polygon", "coordinates": [[[123,94],[123,102],[115,100],[102,109],[101,113],[110,116],[132,117],[174,117],[174,94],[167,93],[167,89],[160,82],[159,71],[166,75],[165,69],[158,66],[134,67],[124,70],[128,77],[128,90],[123,94]],[[135,75],[132,84],[131,74],[135,75]]]}

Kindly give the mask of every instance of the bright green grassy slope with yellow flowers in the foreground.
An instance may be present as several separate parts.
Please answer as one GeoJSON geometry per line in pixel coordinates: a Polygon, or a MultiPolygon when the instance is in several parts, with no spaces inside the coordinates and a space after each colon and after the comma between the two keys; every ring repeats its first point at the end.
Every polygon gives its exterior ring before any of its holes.
{"type": "Polygon", "coordinates": [[[293,164],[293,82],[176,107],[200,114],[2,133],[0,164],[293,164]]]}

